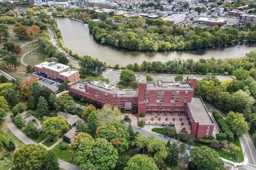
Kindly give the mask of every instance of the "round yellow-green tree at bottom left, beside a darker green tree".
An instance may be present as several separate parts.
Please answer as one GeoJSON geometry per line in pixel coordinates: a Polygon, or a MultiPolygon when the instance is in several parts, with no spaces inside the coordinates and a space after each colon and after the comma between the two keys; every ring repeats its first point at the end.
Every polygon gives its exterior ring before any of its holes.
{"type": "Polygon", "coordinates": [[[14,153],[12,170],[41,170],[47,150],[39,145],[24,145],[14,153]]]}

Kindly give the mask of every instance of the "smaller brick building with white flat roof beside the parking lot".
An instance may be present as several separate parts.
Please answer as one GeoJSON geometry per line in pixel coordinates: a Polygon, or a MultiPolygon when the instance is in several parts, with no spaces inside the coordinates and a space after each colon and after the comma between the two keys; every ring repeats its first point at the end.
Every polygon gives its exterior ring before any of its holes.
{"type": "Polygon", "coordinates": [[[60,79],[64,82],[69,80],[73,83],[80,81],[79,71],[71,69],[70,66],[64,64],[45,61],[35,65],[35,69],[37,74],[44,73],[48,78],[54,80],[60,79]]]}

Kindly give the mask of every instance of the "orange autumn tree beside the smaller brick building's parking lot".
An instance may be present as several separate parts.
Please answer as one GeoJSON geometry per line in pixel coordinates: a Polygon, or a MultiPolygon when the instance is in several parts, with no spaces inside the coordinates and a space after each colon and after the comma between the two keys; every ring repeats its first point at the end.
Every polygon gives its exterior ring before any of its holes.
{"type": "Polygon", "coordinates": [[[20,90],[23,96],[28,97],[32,94],[30,87],[33,82],[37,82],[35,76],[25,77],[20,80],[20,90]]]}

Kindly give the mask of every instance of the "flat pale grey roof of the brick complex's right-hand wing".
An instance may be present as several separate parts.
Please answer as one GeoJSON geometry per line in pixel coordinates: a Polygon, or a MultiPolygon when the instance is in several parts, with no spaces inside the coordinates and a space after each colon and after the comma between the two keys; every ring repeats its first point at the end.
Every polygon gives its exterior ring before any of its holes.
{"type": "Polygon", "coordinates": [[[191,103],[187,103],[187,105],[195,122],[198,122],[200,125],[214,124],[200,96],[194,96],[191,103]]]}

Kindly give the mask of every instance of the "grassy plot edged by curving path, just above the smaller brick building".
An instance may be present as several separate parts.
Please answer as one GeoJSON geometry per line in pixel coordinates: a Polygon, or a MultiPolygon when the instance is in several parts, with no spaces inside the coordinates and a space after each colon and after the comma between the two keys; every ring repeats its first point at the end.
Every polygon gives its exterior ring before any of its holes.
{"type": "Polygon", "coordinates": [[[42,51],[42,49],[40,49],[40,47],[38,49],[35,49],[33,51],[31,51],[31,53],[28,53],[27,55],[25,55],[24,57],[24,62],[28,65],[36,65],[38,63],[41,63],[44,59],[45,55],[42,51]]]}

